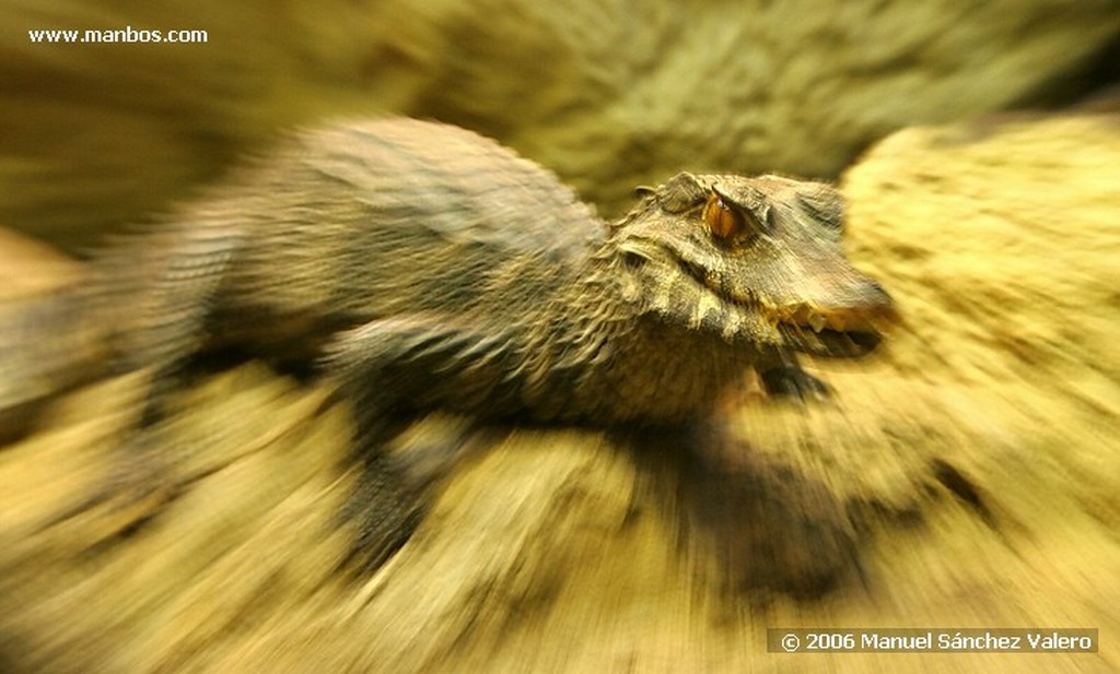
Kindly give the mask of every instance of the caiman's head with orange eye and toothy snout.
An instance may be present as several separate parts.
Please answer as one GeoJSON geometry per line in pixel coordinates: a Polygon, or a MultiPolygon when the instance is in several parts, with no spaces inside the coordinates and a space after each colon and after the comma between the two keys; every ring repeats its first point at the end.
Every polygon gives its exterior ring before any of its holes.
{"type": "Polygon", "coordinates": [[[896,317],[886,291],[844,257],[843,198],[831,186],[680,173],[638,196],[606,250],[640,311],[823,355],[870,350],[896,317]]]}

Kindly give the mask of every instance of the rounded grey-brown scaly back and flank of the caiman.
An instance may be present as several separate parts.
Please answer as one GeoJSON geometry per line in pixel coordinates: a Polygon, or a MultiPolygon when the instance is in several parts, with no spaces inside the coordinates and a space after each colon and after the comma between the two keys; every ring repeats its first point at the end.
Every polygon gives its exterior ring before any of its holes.
{"type": "Polygon", "coordinates": [[[180,359],[203,332],[304,359],[371,319],[486,311],[511,278],[532,303],[606,234],[553,173],[495,141],[339,122],[292,134],[114,247],[102,295],[136,308],[120,347],[136,366],[180,359]]]}

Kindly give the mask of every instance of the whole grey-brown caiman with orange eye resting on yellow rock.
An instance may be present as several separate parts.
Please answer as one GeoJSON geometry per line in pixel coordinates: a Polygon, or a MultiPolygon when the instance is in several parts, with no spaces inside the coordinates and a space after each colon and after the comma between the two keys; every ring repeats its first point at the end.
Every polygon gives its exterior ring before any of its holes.
{"type": "MultiPolygon", "coordinates": [[[[829,184],[700,173],[605,222],[473,132],[343,121],[108,246],[84,303],[118,369],[155,372],[149,410],[214,344],[311,363],[353,402],[376,499],[394,488],[380,445],[423,410],[661,426],[712,415],[750,370],[822,392],[795,354],[865,353],[895,317],[842,225],[829,184]]],[[[413,511],[381,509],[370,535],[413,511]]]]}

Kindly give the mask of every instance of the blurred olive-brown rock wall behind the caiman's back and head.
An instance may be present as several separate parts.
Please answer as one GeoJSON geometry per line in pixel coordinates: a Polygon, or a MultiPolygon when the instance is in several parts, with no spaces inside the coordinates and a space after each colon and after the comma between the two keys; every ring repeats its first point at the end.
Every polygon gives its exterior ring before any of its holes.
{"type": "Polygon", "coordinates": [[[682,169],[836,178],[913,124],[1077,101],[1117,76],[1114,2],[21,2],[4,8],[0,221],[53,241],[158,210],[278,129],[436,118],[605,215],[682,169]],[[68,44],[32,30],[205,30],[68,44]]]}

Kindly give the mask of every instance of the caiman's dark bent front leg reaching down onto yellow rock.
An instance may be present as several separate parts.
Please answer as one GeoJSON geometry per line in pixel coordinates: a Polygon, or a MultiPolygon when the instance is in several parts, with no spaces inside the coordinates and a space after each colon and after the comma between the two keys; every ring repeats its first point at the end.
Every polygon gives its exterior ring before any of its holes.
{"type": "MultiPolygon", "coordinates": [[[[429,480],[416,475],[386,444],[424,409],[483,410],[508,388],[508,347],[433,315],[372,321],[338,335],[323,361],[354,407],[354,449],[362,475],[343,516],[357,522],[353,556],[374,569],[403,545],[427,511],[429,480]],[[411,477],[407,477],[411,475],[411,477]]],[[[439,448],[444,472],[461,443],[439,448]]]]}

